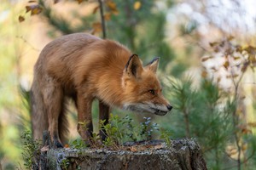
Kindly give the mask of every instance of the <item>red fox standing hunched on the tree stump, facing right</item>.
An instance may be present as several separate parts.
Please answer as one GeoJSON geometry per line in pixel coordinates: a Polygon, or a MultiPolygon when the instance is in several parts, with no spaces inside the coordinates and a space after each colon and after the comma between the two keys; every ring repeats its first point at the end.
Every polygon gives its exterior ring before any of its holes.
{"type": "MultiPolygon", "coordinates": [[[[99,117],[108,123],[109,109],[166,115],[172,106],[161,94],[156,77],[159,58],[143,67],[137,54],[119,42],[85,33],[49,42],[34,66],[31,89],[32,131],[42,139],[48,130],[56,147],[67,134],[65,103],[73,99],[78,111],[78,132],[85,141],[92,134],[91,105],[99,100],[99,117]],[[83,122],[86,123],[84,127],[83,122]]],[[[104,139],[104,134],[101,134],[104,139]]]]}

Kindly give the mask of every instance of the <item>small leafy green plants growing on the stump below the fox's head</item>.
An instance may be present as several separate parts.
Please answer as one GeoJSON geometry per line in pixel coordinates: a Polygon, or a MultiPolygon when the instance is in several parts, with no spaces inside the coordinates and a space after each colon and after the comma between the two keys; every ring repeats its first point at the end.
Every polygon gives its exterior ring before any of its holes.
{"type": "MultiPolygon", "coordinates": [[[[110,114],[109,122],[105,124],[105,120],[99,122],[100,130],[105,133],[107,138],[101,142],[98,133],[92,133],[90,138],[90,147],[92,148],[112,148],[117,150],[122,144],[128,141],[137,142],[140,140],[153,139],[153,134],[159,131],[159,125],[152,123],[150,117],[144,117],[144,122],[136,123],[130,116],[119,117],[110,114]]],[[[82,123],[86,127],[86,123],[82,123]]],[[[70,146],[75,149],[83,149],[87,147],[83,139],[75,139],[70,146]]]]}

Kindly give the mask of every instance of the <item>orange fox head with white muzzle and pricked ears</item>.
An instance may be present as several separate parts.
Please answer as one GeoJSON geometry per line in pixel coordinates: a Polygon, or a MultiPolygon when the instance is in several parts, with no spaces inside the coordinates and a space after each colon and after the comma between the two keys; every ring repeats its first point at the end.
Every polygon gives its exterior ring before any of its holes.
{"type": "Polygon", "coordinates": [[[143,67],[137,54],[131,55],[123,71],[122,87],[125,92],[123,109],[166,115],[172,105],[164,98],[156,77],[159,58],[143,67]]]}

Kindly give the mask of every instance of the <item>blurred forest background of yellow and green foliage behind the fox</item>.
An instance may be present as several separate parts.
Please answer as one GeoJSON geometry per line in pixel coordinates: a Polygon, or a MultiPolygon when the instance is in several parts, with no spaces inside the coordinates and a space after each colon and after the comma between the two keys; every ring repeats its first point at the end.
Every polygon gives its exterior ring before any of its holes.
{"type": "MultiPolygon", "coordinates": [[[[255,169],[256,2],[104,0],[102,5],[107,38],[131,48],[144,63],[160,56],[158,74],[174,107],[166,116],[129,115],[151,116],[172,139],[197,139],[209,169],[255,169]]],[[[55,37],[73,32],[102,37],[99,1],[1,0],[3,169],[25,168],[20,133],[31,129],[26,99],[38,54],[55,37]]],[[[70,112],[70,139],[76,139],[76,114],[70,112]]]]}

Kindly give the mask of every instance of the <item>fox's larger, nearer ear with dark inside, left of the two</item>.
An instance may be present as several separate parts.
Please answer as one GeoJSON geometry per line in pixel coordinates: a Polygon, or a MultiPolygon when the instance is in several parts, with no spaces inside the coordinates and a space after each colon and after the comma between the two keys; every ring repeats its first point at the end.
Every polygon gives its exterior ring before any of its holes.
{"type": "Polygon", "coordinates": [[[125,65],[125,73],[129,77],[140,77],[143,71],[143,65],[137,54],[132,54],[127,64],[125,65]]]}

